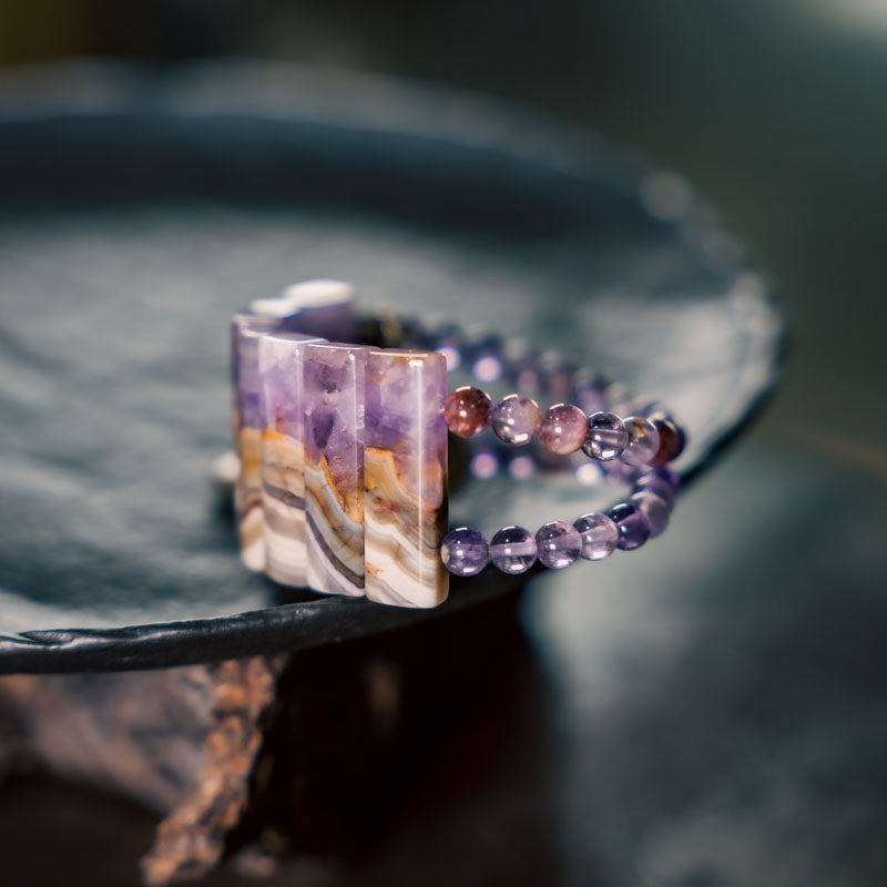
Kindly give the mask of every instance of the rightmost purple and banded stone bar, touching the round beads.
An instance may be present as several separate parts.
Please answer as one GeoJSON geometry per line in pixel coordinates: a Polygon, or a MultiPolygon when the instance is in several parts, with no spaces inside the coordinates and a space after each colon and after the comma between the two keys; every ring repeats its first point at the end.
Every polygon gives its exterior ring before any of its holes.
{"type": "Polygon", "coordinates": [[[368,351],[366,593],[378,603],[428,608],[447,599],[446,396],[442,354],[368,351]]]}

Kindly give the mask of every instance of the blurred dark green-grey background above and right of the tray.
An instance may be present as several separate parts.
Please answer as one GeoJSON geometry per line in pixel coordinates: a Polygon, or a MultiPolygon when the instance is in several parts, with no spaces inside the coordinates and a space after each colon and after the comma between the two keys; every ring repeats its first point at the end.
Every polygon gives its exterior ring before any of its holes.
{"type": "MultiPolygon", "coordinates": [[[[538,884],[546,866],[582,885],[884,884],[887,2],[3,0],[0,63],[83,54],[384,72],[587,124],[683,173],[788,316],[777,397],[655,557],[613,568],[618,603],[567,574],[526,601],[543,750],[439,786],[366,883],[404,859],[446,868],[432,835],[467,816],[523,842],[479,840],[476,884],[538,884]],[[551,815],[527,802],[539,791],[551,815]],[[528,834],[544,858],[521,874],[528,834]]],[[[11,870],[59,835],[77,856],[67,791],[4,788],[11,870]]],[[[78,804],[128,825],[103,863],[128,870],[150,818],[78,804]]]]}

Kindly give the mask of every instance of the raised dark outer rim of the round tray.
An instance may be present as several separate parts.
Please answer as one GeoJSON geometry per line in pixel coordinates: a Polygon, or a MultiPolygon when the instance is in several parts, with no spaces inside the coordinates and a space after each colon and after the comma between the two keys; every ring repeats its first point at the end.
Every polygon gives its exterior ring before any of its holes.
{"type": "MultiPolygon", "coordinates": [[[[93,60],[11,68],[0,75],[0,129],[24,121],[39,124],[72,116],[122,119],[132,113],[134,105],[144,103],[145,96],[150,98],[150,112],[157,115],[246,115],[442,139],[517,155],[580,176],[591,170],[600,174],[603,167],[621,184],[635,190],[644,176],[661,172],[636,153],[616,152],[583,126],[477,93],[289,63],[198,62],[163,73],[93,60]],[[225,89],[225,83],[231,89],[225,89]],[[263,83],[275,88],[263,90],[263,83]],[[434,113],[429,113],[431,106],[434,113]],[[528,137],[527,133],[532,135],[528,137]]],[[[665,221],[680,226],[699,218],[721,228],[717,214],[696,195],[691,195],[680,216],[665,221]]],[[[737,266],[737,271],[747,268],[745,264],[737,266]]],[[[762,307],[772,313],[774,320],[766,383],[746,404],[740,419],[682,472],[685,483],[707,470],[748,428],[775,389],[785,356],[785,330],[768,286],[762,293],[762,307]]],[[[0,674],[174,667],[308,650],[459,612],[513,593],[526,578],[485,583],[470,593],[460,589],[437,610],[402,610],[364,600],[320,597],[206,619],[0,635],[0,674]],[[340,621],[325,626],[323,620],[330,612],[340,621]]]]}

